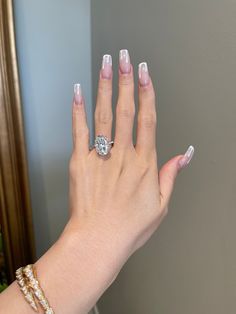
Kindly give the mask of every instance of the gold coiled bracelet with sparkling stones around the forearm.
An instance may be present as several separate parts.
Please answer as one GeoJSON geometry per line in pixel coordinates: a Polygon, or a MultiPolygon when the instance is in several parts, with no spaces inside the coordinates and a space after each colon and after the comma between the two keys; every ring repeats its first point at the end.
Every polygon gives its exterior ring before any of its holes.
{"type": "Polygon", "coordinates": [[[38,312],[37,306],[34,301],[34,296],[38,300],[45,314],[54,314],[53,309],[50,307],[48,300],[46,299],[42,288],[40,287],[39,281],[36,275],[36,269],[34,265],[29,264],[25,267],[21,267],[16,271],[16,280],[20,287],[23,287],[21,291],[23,292],[25,299],[30,303],[31,307],[38,312]],[[21,276],[20,276],[21,275],[21,276]],[[22,286],[21,286],[22,285],[22,286]],[[24,289],[24,291],[23,291],[24,289]],[[31,293],[31,294],[30,294],[31,293]],[[32,295],[33,294],[33,295],[32,295]],[[30,297],[31,295],[31,297],[30,297]],[[33,301],[32,301],[33,299],[33,301]],[[30,300],[30,302],[29,302],[30,300]],[[36,309],[35,309],[36,306],[36,309]]]}

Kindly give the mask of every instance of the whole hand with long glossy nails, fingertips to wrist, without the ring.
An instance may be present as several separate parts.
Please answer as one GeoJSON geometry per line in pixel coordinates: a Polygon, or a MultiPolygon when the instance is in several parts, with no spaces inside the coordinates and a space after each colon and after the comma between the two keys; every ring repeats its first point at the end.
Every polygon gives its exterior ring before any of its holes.
{"type": "MultiPolygon", "coordinates": [[[[81,86],[75,85],[70,211],[73,224],[106,231],[106,245],[116,243],[120,249],[114,254],[121,252],[128,257],[147,241],[167,214],[176,175],[189,163],[193,147],[186,155],[169,160],[158,173],[155,92],[147,64],[141,63],[138,68],[136,145],[132,139],[134,73],[127,50],[120,51],[119,65],[115,138],[109,158],[99,157],[95,149],[89,150],[85,103],[81,86]]],[[[95,136],[111,139],[112,123],[112,59],[105,55],[95,110],[95,136]]]]}

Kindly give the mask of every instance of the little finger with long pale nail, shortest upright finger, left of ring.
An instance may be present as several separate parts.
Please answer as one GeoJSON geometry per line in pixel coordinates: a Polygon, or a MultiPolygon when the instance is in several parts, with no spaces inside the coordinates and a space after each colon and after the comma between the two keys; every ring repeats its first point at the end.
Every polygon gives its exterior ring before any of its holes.
{"type": "Polygon", "coordinates": [[[85,103],[80,84],[74,85],[72,135],[76,154],[87,155],[89,153],[89,128],[86,121],[85,103]]]}

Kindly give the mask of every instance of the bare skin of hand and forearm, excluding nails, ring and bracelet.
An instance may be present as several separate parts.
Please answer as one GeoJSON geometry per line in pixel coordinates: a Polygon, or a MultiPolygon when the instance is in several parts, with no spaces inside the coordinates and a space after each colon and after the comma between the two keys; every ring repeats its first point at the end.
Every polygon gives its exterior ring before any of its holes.
{"type": "MultiPolygon", "coordinates": [[[[85,314],[127,259],[150,238],[168,212],[184,155],[158,169],[156,101],[151,78],[139,82],[137,139],[133,67],[119,71],[114,146],[109,158],[89,150],[85,103],[72,105],[73,153],[69,163],[70,219],[56,243],[35,263],[57,314],[85,314]]],[[[100,72],[95,133],[111,138],[112,75],[100,72]]],[[[183,167],[183,166],[182,166],[183,167]]],[[[0,313],[33,313],[16,282],[0,295],[0,313]]]]}

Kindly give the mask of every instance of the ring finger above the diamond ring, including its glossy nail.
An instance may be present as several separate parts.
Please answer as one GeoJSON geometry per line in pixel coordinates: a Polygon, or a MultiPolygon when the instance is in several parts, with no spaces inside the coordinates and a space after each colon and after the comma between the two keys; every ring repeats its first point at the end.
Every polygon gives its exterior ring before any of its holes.
{"type": "Polygon", "coordinates": [[[104,55],[98,83],[95,109],[95,134],[111,138],[112,130],[112,58],[104,55]]]}

